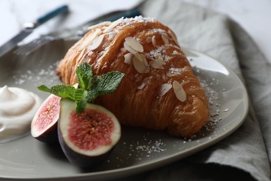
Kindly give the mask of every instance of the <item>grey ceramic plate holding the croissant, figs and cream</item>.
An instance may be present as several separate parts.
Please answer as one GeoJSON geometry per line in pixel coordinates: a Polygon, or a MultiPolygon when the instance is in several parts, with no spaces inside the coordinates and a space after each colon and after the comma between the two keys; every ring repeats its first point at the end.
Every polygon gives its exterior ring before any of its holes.
{"type": "MultiPolygon", "coordinates": [[[[42,98],[37,86],[60,84],[57,62],[74,42],[56,41],[30,56],[6,54],[0,58],[0,87],[17,86],[42,98]]],[[[81,169],[67,162],[60,148],[36,141],[31,136],[0,144],[1,179],[106,180],[147,171],[199,152],[233,133],[245,120],[247,92],[231,70],[215,59],[184,49],[195,74],[206,88],[211,104],[211,123],[193,139],[165,132],[122,127],[122,139],[110,157],[95,168],[81,169]]]]}

